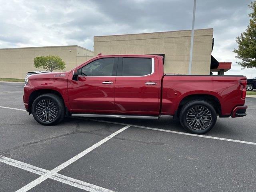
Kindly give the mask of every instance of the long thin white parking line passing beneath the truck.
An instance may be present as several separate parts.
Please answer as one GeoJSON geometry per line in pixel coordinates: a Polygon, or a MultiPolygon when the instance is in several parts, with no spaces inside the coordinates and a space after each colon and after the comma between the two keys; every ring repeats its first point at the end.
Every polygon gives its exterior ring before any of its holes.
{"type": "MultiPolygon", "coordinates": [[[[0,107],[2,107],[2,106],[0,106],[0,107]]],[[[2,108],[7,108],[7,107],[2,107],[2,108]]],[[[17,109],[17,108],[11,108],[11,109],[22,110],[22,109],[17,109]]],[[[175,133],[175,134],[181,134],[181,135],[188,135],[188,136],[194,136],[194,137],[202,137],[202,138],[208,138],[208,139],[215,139],[215,140],[223,140],[223,141],[229,141],[229,142],[256,145],[256,142],[249,142],[249,141],[242,141],[242,140],[235,140],[235,139],[228,139],[228,138],[221,138],[221,137],[213,137],[213,136],[207,136],[207,135],[196,135],[196,134],[191,134],[191,133],[171,131],[171,130],[158,129],[158,128],[151,128],[151,127],[145,127],[145,126],[139,126],[139,125],[133,125],[133,124],[126,124],[126,123],[119,123],[119,122],[112,122],[112,121],[104,121],[104,120],[97,120],[97,119],[89,119],[89,118],[76,118],[76,119],[87,119],[87,120],[96,121],[96,122],[112,123],[112,124],[118,124],[118,125],[128,125],[128,126],[133,126],[133,127],[143,128],[143,129],[163,131],[163,132],[169,132],[169,133],[175,133]]]]}

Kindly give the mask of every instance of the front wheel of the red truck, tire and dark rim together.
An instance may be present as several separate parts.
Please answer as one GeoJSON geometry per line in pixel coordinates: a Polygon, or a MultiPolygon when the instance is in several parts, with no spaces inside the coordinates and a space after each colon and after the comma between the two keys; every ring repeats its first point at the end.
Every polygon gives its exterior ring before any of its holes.
{"type": "Polygon", "coordinates": [[[32,104],[34,119],[42,125],[55,125],[63,120],[65,106],[62,99],[55,94],[42,94],[32,104]]]}

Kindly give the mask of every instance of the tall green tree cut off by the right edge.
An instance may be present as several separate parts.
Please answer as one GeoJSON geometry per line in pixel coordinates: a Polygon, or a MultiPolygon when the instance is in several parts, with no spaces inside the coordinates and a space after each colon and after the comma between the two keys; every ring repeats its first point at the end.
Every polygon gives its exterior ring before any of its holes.
{"type": "Polygon", "coordinates": [[[237,54],[236,58],[242,60],[236,62],[242,69],[256,68],[256,1],[251,2],[248,7],[252,10],[249,14],[250,24],[245,32],[236,38],[238,49],[233,51],[237,54]]]}

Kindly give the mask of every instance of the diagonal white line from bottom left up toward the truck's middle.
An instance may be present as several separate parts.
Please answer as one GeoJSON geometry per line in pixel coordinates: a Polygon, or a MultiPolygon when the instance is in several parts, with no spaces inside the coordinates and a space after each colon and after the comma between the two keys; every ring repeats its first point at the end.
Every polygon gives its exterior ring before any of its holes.
{"type": "Polygon", "coordinates": [[[81,153],[77,154],[76,156],[74,156],[70,160],[60,164],[58,167],[54,168],[53,170],[48,171],[46,174],[40,176],[39,178],[35,179],[34,181],[32,181],[32,182],[30,182],[28,184],[26,184],[24,187],[20,188],[16,192],[26,192],[26,191],[32,189],[33,187],[37,186],[38,184],[40,184],[44,180],[46,180],[48,178],[51,178],[54,174],[56,174],[60,170],[64,169],[66,166],[69,166],[70,164],[72,164],[76,160],[78,160],[81,157],[85,156],[86,154],[88,154],[89,152],[91,152],[92,150],[97,148],[98,146],[104,144],[105,142],[107,142],[108,140],[110,140],[111,138],[116,136],[118,133],[126,130],[128,127],[130,127],[130,125],[126,125],[125,127],[121,128],[120,130],[112,133],[110,136],[107,136],[106,138],[100,140],[98,143],[94,144],[93,146],[89,147],[88,149],[86,149],[86,150],[82,151],[81,153]]]}

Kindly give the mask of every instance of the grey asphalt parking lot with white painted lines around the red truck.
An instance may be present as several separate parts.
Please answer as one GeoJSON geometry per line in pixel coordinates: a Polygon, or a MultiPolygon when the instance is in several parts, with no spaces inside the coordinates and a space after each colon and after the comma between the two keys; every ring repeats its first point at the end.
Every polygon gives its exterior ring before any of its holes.
{"type": "Polygon", "coordinates": [[[42,126],[24,111],[23,86],[0,82],[0,191],[256,191],[256,98],[244,118],[198,136],[168,116],[42,126]]]}

